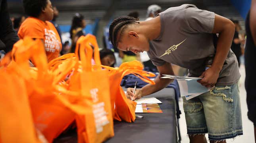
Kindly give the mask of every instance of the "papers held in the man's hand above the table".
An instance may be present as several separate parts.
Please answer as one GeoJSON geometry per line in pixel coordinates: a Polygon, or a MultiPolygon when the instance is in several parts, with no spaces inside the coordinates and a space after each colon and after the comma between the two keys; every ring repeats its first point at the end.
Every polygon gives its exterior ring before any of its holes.
{"type": "Polygon", "coordinates": [[[197,82],[202,78],[199,77],[187,77],[187,76],[175,76],[175,75],[164,75],[161,78],[177,79],[179,83],[179,90],[181,96],[185,96],[186,100],[190,100],[200,94],[208,92],[211,88],[206,88],[197,82]]]}

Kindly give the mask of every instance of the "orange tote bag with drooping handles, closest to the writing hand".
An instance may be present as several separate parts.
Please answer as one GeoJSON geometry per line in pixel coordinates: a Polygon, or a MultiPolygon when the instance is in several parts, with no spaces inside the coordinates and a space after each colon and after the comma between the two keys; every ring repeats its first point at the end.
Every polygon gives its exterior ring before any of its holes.
{"type": "Polygon", "coordinates": [[[120,86],[121,79],[125,75],[134,74],[141,78],[143,81],[155,84],[154,81],[148,77],[154,77],[153,73],[143,71],[143,65],[139,61],[125,62],[121,64],[119,68],[112,68],[108,66],[102,66],[108,69],[110,77],[110,85],[113,87],[110,90],[112,111],[115,120],[124,120],[126,122],[134,122],[136,102],[127,99],[122,87],[120,86]],[[115,108],[114,108],[115,107],[115,108]]]}

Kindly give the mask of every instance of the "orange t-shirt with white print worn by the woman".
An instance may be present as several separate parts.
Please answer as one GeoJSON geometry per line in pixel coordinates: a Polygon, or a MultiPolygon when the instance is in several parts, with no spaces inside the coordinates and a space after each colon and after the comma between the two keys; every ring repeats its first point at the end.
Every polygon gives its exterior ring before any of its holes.
{"type": "Polygon", "coordinates": [[[49,21],[41,21],[34,17],[28,17],[20,26],[18,36],[23,39],[26,36],[30,38],[42,39],[48,62],[57,58],[62,49],[60,36],[49,21]]]}

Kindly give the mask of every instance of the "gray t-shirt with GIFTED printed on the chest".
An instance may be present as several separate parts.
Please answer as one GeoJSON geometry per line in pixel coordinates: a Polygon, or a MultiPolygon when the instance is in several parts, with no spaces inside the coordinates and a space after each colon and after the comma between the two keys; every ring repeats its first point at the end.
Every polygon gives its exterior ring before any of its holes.
{"type": "MultiPolygon", "coordinates": [[[[169,8],[159,14],[160,36],[150,41],[147,52],[155,66],[165,62],[189,69],[189,76],[198,77],[206,70],[206,58],[214,55],[215,14],[192,4],[169,8]]],[[[235,54],[229,50],[216,86],[232,85],[240,78],[235,54]]]]}

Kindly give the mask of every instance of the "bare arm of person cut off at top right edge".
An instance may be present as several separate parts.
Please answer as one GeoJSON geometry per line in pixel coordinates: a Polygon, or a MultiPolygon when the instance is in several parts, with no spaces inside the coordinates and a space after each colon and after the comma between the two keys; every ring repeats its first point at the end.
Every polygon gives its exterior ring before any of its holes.
{"type": "Polygon", "coordinates": [[[252,0],[251,10],[250,10],[250,31],[252,34],[252,38],[254,41],[254,45],[256,45],[256,0],[252,0]]]}

